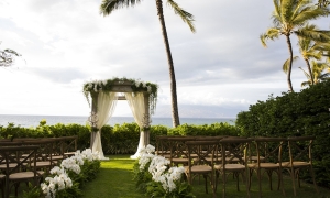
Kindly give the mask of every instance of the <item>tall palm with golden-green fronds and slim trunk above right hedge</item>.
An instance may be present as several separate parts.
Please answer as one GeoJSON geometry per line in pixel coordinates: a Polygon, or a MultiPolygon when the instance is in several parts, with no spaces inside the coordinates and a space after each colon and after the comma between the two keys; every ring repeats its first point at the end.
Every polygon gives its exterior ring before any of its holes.
{"type": "Polygon", "coordinates": [[[275,40],[280,35],[286,37],[286,42],[289,50],[289,58],[284,64],[284,68],[287,68],[287,82],[289,91],[294,91],[292,85],[292,67],[294,61],[293,46],[290,35],[296,34],[301,37],[310,37],[316,41],[323,41],[324,37],[319,32],[300,30],[309,20],[315,20],[320,16],[329,14],[328,8],[318,8],[312,4],[311,0],[273,0],[275,10],[273,12],[274,26],[268,29],[264,34],[260,36],[264,46],[266,40],[275,40]]]}

